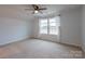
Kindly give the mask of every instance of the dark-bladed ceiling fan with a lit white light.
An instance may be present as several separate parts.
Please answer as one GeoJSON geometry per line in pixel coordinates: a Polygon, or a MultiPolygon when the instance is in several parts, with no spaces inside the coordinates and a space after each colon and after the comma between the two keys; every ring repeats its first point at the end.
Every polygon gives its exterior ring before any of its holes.
{"type": "Polygon", "coordinates": [[[25,9],[26,11],[33,11],[33,14],[42,13],[42,10],[47,10],[46,8],[40,8],[38,4],[31,4],[32,9],[25,9]]]}

